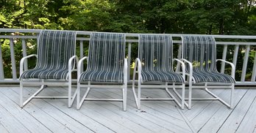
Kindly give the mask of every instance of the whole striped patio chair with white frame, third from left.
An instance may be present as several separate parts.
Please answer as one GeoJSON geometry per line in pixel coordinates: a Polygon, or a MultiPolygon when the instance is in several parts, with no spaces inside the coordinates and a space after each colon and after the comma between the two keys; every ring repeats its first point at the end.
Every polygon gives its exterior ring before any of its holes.
{"type": "Polygon", "coordinates": [[[172,39],[169,35],[140,34],[138,58],[132,77],[132,91],[138,109],[141,100],[174,100],[184,109],[185,102],[185,64],[172,55],[172,39]],[[182,64],[182,75],[174,72],[174,61],[182,64]],[[136,70],[138,69],[138,70],[136,70]],[[135,75],[138,73],[138,94],[135,91],[135,75]],[[164,88],[171,98],[142,98],[141,88],[164,88]],[[182,100],[179,102],[169,88],[182,88],[182,100]]]}

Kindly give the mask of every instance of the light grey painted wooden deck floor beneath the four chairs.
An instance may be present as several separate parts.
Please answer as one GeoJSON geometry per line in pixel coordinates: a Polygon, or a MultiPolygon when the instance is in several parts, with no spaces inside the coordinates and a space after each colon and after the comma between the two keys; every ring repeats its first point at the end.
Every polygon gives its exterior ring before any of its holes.
{"type": "MultiPolygon", "coordinates": [[[[29,96],[37,88],[27,87],[29,96]]],[[[256,89],[235,89],[235,108],[218,101],[193,102],[192,110],[180,110],[170,101],[143,101],[135,107],[129,88],[127,111],[121,102],[85,102],[81,110],[67,107],[67,99],[32,99],[18,106],[18,87],[0,87],[0,132],[256,132],[256,89]]],[[[230,90],[212,90],[218,96],[230,90]]],[[[46,88],[41,95],[65,95],[65,88],[46,88]]],[[[167,96],[160,89],[142,90],[144,96],[167,96]]],[[[121,91],[94,89],[90,97],[116,98],[121,91]]],[[[194,90],[193,96],[207,96],[194,90]]]]}

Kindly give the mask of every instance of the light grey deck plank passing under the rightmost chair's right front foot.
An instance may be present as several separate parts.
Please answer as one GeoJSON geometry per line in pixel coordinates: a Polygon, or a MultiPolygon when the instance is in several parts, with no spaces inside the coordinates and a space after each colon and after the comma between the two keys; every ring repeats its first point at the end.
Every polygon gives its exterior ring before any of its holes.
{"type": "MultiPolygon", "coordinates": [[[[230,90],[225,90],[225,91],[228,92],[230,90]]],[[[236,104],[238,104],[238,102],[240,102],[241,98],[246,93],[246,91],[247,91],[246,89],[235,90],[234,107],[236,104]]],[[[223,99],[228,101],[229,100],[228,95],[227,95],[227,97],[224,97],[223,99]]],[[[213,116],[207,121],[207,123],[205,123],[205,125],[202,127],[202,129],[199,130],[199,132],[202,132],[202,133],[203,132],[217,132],[219,127],[229,117],[230,113],[232,113],[232,111],[235,110],[235,109],[230,110],[223,104],[220,104],[219,106],[220,107],[218,107],[218,111],[216,111],[216,113],[213,114],[213,116]]]]}

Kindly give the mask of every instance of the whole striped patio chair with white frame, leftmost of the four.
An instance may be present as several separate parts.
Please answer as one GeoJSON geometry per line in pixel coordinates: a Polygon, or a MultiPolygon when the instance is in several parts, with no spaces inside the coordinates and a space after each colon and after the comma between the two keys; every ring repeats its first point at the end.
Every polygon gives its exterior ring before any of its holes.
{"type": "Polygon", "coordinates": [[[38,55],[21,58],[20,64],[20,106],[24,107],[31,99],[68,99],[68,107],[74,102],[71,96],[71,72],[78,61],[75,56],[75,31],[40,31],[38,37],[38,55]],[[34,69],[24,69],[24,61],[37,57],[34,69]],[[24,85],[40,85],[40,89],[24,102],[24,85]],[[68,96],[37,96],[46,86],[68,86],[68,96]]]}

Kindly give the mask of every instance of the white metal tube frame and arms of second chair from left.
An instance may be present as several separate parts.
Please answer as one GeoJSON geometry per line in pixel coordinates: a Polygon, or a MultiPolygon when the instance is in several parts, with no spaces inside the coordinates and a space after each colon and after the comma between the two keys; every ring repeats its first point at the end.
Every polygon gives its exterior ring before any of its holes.
{"type": "Polygon", "coordinates": [[[124,83],[123,83],[123,85],[119,85],[119,86],[104,85],[104,88],[121,88],[122,92],[123,92],[122,93],[123,99],[89,99],[89,98],[86,98],[88,96],[91,88],[102,88],[102,86],[100,86],[100,85],[91,85],[90,81],[88,81],[87,85],[82,85],[79,82],[79,78],[80,78],[80,75],[82,73],[83,61],[85,59],[88,61],[88,57],[85,56],[85,57],[83,57],[79,60],[78,65],[77,65],[77,110],[79,110],[82,107],[82,104],[85,101],[111,101],[111,102],[123,102],[123,110],[126,111],[127,110],[127,77],[128,77],[127,76],[127,68],[128,68],[127,58],[124,58],[124,83]],[[85,87],[85,88],[87,88],[87,90],[86,90],[85,94],[82,96],[82,99],[80,100],[80,89],[81,89],[81,87],[85,87]]]}

